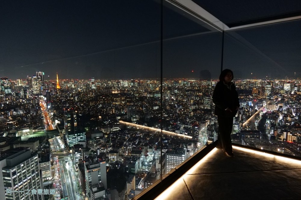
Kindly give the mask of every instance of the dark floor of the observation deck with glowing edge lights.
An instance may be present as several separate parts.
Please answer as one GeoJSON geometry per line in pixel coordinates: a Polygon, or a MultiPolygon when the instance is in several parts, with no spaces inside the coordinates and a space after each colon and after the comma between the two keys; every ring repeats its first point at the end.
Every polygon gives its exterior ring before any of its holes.
{"type": "Polygon", "coordinates": [[[233,152],[235,157],[228,158],[217,150],[158,199],[301,200],[301,161],[233,152]]]}

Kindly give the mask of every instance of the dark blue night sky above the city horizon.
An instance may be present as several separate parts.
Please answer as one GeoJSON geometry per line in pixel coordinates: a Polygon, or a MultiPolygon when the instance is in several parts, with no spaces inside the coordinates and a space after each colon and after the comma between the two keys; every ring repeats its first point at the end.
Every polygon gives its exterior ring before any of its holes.
{"type": "MultiPolygon", "coordinates": [[[[226,33],[224,68],[240,78],[301,77],[299,27],[300,20],[226,33]]],[[[0,77],[160,78],[160,28],[153,0],[0,1],[0,77]]],[[[163,39],[164,78],[204,70],[218,77],[221,32],[164,6],[163,39]]]]}

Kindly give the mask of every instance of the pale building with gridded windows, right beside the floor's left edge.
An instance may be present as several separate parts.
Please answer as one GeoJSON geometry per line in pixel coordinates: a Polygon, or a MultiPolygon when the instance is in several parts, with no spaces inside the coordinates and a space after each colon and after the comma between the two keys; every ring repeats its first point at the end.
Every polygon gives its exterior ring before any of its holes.
{"type": "Polygon", "coordinates": [[[166,173],[186,160],[186,149],[176,148],[166,151],[166,173]]]}

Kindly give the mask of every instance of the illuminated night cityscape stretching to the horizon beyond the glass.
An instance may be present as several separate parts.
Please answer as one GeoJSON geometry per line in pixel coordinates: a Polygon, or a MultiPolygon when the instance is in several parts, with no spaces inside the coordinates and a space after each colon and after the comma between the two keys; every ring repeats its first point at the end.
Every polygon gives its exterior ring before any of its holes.
{"type": "MultiPolygon", "coordinates": [[[[41,184],[56,189],[55,197],[83,199],[101,192],[107,198],[112,186],[127,194],[142,191],[217,139],[208,98],[217,79],[163,81],[163,146],[159,80],[38,79],[39,91],[25,79],[1,81],[6,86],[1,155],[30,149],[42,165],[41,184]],[[117,180],[120,169],[135,178],[123,174],[117,180]]],[[[237,79],[235,84],[241,106],[233,143],[301,156],[301,80],[237,79]]]]}

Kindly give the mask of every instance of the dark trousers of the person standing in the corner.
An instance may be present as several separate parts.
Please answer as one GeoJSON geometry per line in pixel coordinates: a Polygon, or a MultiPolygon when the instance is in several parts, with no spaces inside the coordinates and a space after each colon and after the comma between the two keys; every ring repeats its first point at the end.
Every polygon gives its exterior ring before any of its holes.
{"type": "Polygon", "coordinates": [[[232,152],[231,133],[233,127],[233,117],[217,116],[219,123],[219,137],[217,147],[226,152],[232,152]]]}

